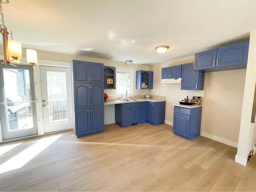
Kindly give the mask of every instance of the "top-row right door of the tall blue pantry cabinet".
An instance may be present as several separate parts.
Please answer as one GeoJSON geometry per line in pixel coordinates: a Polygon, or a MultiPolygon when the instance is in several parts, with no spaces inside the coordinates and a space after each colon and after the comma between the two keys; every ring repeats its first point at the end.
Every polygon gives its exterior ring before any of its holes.
{"type": "Polygon", "coordinates": [[[90,62],[90,82],[103,83],[104,69],[102,63],[90,62]]]}

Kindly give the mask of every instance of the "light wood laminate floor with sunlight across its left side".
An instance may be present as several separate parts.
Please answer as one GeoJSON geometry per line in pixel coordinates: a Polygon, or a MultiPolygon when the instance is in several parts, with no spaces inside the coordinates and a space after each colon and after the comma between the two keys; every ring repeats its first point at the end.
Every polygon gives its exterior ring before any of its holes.
{"type": "Polygon", "coordinates": [[[172,126],[108,125],[77,139],[73,132],[0,145],[1,191],[256,190],[256,158],[234,162],[237,149],[172,126]]]}

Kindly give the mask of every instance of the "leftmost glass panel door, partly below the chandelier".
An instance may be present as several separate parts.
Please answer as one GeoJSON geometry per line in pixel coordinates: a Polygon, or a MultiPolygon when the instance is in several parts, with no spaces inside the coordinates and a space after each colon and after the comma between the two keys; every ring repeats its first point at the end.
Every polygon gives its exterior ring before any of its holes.
{"type": "Polygon", "coordinates": [[[0,67],[3,140],[37,134],[32,66],[0,67]]]}

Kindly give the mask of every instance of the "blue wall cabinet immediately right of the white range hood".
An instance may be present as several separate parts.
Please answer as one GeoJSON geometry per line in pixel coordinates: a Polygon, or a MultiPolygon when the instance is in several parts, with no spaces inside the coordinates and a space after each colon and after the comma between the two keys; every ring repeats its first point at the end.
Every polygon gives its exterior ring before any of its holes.
{"type": "Polygon", "coordinates": [[[194,63],[182,65],[181,90],[203,90],[204,71],[194,70],[194,63]]]}

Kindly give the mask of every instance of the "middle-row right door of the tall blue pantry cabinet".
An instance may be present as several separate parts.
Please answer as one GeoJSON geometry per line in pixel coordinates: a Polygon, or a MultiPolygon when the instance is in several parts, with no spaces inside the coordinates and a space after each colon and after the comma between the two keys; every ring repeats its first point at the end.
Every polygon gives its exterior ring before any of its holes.
{"type": "Polygon", "coordinates": [[[91,84],[91,108],[103,108],[104,107],[104,85],[103,84],[91,84]]]}

